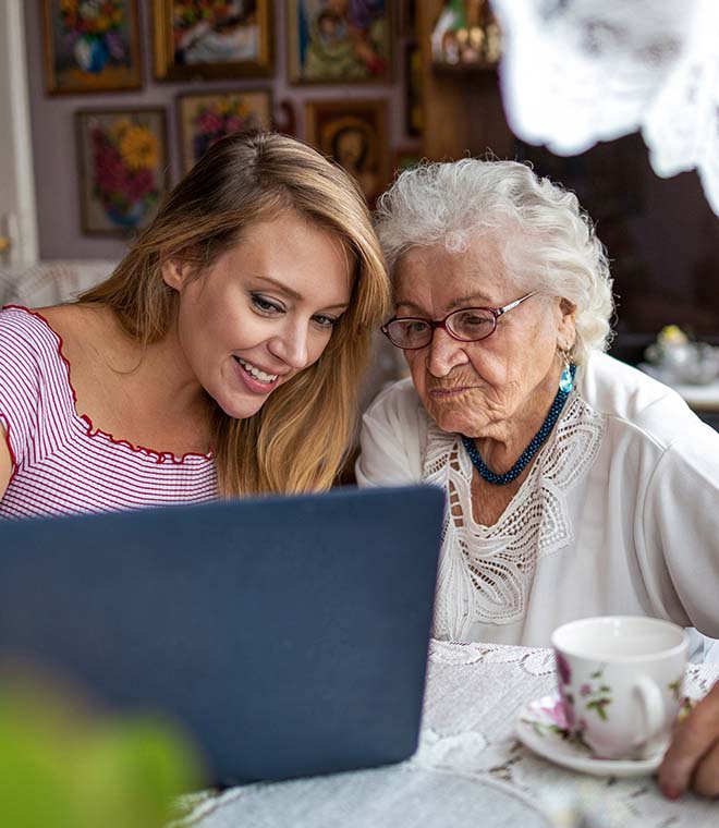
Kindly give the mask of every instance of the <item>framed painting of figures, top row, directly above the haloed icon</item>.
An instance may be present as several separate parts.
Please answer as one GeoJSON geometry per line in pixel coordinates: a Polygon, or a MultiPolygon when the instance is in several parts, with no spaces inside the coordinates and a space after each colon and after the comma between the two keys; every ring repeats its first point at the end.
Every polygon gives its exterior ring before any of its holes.
{"type": "Polygon", "coordinates": [[[290,82],[388,82],[390,5],[388,0],[288,0],[290,82]]]}

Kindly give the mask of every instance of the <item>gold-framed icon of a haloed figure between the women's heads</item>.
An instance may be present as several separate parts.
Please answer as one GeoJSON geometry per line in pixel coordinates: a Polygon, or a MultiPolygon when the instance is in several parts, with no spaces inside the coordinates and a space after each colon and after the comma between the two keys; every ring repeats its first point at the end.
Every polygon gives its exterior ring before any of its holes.
{"type": "Polygon", "coordinates": [[[309,101],[305,135],[357,180],[373,206],[390,180],[387,101],[309,101]]]}

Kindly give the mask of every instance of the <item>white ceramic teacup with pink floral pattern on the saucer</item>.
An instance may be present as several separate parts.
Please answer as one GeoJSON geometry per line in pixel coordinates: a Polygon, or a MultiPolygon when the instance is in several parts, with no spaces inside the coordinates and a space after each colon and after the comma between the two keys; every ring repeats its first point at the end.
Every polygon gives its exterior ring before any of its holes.
{"type": "Polygon", "coordinates": [[[551,636],[572,736],[604,759],[662,751],[682,701],[687,640],[670,621],[605,616],[551,636]]]}

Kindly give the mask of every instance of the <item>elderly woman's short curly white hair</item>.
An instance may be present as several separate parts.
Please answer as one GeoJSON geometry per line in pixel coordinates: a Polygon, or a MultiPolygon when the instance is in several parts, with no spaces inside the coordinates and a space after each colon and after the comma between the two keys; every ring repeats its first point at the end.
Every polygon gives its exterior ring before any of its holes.
{"type": "Polygon", "coordinates": [[[379,199],[375,228],[392,275],[412,248],[443,244],[461,254],[489,233],[510,283],[576,307],[573,362],[607,350],[613,301],[605,248],[574,193],[528,166],[464,158],[406,170],[379,199]]]}

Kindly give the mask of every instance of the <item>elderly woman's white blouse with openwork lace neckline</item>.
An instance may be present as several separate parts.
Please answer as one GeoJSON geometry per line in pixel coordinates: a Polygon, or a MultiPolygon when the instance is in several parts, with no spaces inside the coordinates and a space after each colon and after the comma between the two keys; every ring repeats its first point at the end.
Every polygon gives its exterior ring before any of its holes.
{"type": "Polygon", "coordinates": [[[425,480],[447,511],[434,635],[548,646],[559,624],[650,614],[719,637],[719,434],[671,389],[595,353],[503,514],[475,523],[472,463],[412,381],[363,421],[362,486],[425,480]]]}

